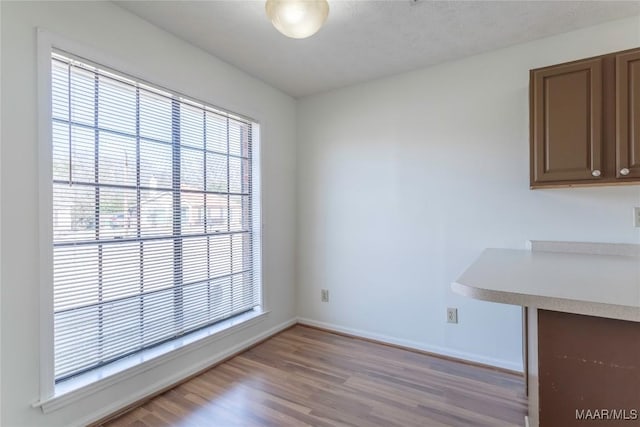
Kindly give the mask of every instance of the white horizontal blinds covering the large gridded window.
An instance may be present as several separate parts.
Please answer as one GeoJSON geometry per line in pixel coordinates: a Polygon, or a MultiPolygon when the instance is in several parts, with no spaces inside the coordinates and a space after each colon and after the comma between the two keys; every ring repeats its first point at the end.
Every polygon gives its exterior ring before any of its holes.
{"type": "Polygon", "coordinates": [[[259,305],[256,126],[53,54],[56,380],[259,305]]]}

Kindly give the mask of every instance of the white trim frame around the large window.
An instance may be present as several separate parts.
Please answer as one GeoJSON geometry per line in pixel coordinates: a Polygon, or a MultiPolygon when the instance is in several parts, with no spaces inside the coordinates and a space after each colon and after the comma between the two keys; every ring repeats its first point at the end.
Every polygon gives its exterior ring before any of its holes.
{"type": "MultiPolygon", "coordinates": [[[[241,323],[234,321],[233,318],[227,319],[220,324],[214,324],[208,326],[201,331],[204,331],[204,337],[196,341],[189,340],[189,334],[183,336],[183,341],[187,341],[175,349],[161,353],[151,360],[140,362],[137,365],[126,368],[122,371],[113,373],[108,377],[96,380],[88,384],[84,384],[76,389],[67,387],[56,386],[54,380],[54,308],[53,308],[53,189],[51,186],[53,171],[52,171],[52,147],[51,147],[51,54],[55,50],[62,50],[72,52],[74,55],[86,58],[89,61],[105,64],[108,68],[117,69],[124,74],[133,75],[139,77],[143,81],[154,81],[158,79],[147,79],[146,74],[139,69],[132,67],[131,64],[127,64],[117,58],[113,58],[109,55],[101,53],[94,48],[82,45],[73,40],[69,40],[60,35],[54,34],[42,28],[37,28],[37,61],[36,61],[36,75],[37,75],[37,131],[38,131],[38,244],[39,244],[39,258],[36,265],[39,268],[39,298],[40,298],[40,310],[39,310],[39,328],[40,328],[40,395],[39,399],[33,404],[34,407],[41,407],[43,412],[50,412],[59,409],[63,406],[71,404],[88,393],[93,393],[104,388],[107,388],[119,381],[126,380],[132,375],[136,375],[139,372],[146,371],[155,366],[159,366],[169,360],[180,357],[187,352],[196,350],[202,346],[208,345],[214,341],[217,341],[225,336],[235,333],[237,330],[244,329],[249,326],[253,326],[268,317],[269,310],[265,307],[264,298],[264,263],[261,262],[259,268],[260,279],[260,305],[253,311],[246,313],[246,319],[241,323]],[[219,330],[216,330],[219,329],[219,330]],[[64,392],[62,392],[64,390],[64,392]]],[[[163,82],[159,82],[156,86],[164,88],[170,85],[164,85],[163,82]]],[[[180,90],[172,90],[171,92],[182,94],[180,90]]],[[[185,95],[187,98],[200,102],[197,97],[185,95]]],[[[244,114],[235,113],[233,108],[218,107],[215,103],[202,101],[203,104],[212,105],[215,108],[219,108],[222,111],[229,114],[236,115],[238,117],[247,118],[244,114]]],[[[246,110],[246,108],[243,108],[246,110]]],[[[251,114],[251,121],[259,125],[256,138],[259,141],[257,144],[258,156],[258,173],[254,175],[254,180],[260,187],[258,188],[255,196],[255,202],[259,208],[261,215],[260,229],[258,233],[259,238],[259,254],[260,258],[264,259],[263,252],[263,240],[264,240],[264,224],[265,215],[263,210],[263,168],[264,163],[262,152],[262,139],[261,135],[264,134],[264,123],[259,119],[260,114],[254,114],[254,111],[248,111],[251,114]]],[[[195,333],[198,333],[196,331],[195,333]]],[[[201,332],[202,333],[202,332],[201,332]]],[[[237,346],[235,346],[237,347],[237,346]]],[[[153,349],[149,349],[153,350],[153,349]]],[[[144,352],[144,351],[143,351],[144,352]]],[[[141,353],[143,353],[141,352],[141,353]]],[[[107,365],[108,366],[108,365],[107,365]]],[[[101,368],[98,368],[101,369],[101,368]]]]}

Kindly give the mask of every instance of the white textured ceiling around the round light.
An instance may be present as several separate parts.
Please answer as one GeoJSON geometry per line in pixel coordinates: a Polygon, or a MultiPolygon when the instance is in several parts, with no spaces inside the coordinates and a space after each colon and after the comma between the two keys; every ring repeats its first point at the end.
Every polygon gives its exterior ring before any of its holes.
{"type": "Polygon", "coordinates": [[[294,97],[640,14],[638,1],[329,0],[324,28],[294,40],[263,1],[116,3],[294,97]]]}

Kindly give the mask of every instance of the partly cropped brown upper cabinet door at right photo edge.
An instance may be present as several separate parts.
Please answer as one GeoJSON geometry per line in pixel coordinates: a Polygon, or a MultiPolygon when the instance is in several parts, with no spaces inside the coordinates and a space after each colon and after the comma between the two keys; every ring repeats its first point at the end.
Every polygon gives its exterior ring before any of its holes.
{"type": "Polygon", "coordinates": [[[616,56],[616,177],[640,178],[640,49],[616,56]]]}

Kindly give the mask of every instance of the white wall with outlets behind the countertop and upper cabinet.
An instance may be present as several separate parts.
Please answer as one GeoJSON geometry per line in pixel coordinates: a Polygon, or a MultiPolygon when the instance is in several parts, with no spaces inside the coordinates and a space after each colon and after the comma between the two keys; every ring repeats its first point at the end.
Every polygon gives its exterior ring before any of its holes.
{"type": "Polygon", "coordinates": [[[300,100],[298,315],[521,369],[520,309],[449,284],[486,247],[640,242],[640,186],[528,182],[529,69],[639,45],[633,17],[300,100]]]}

